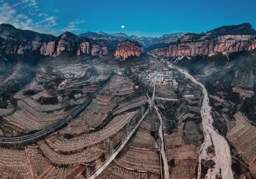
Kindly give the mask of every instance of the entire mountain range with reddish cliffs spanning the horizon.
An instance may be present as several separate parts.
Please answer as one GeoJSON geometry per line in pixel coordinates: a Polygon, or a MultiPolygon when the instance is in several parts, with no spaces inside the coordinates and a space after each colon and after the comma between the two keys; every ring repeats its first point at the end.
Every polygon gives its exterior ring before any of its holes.
{"type": "Polygon", "coordinates": [[[70,52],[80,56],[104,56],[127,58],[143,52],[164,57],[212,56],[256,49],[256,31],[249,23],[222,26],[206,33],[174,33],[159,38],[128,36],[124,33],[108,34],[87,32],[60,36],[17,29],[10,24],[0,24],[0,52],[5,55],[59,56],[70,52]],[[121,43],[120,42],[124,42],[121,43]],[[136,42],[136,43],[131,43],[136,42]],[[132,47],[125,47],[132,45],[132,47]],[[122,52],[120,47],[122,46],[122,52]],[[143,50],[142,48],[143,47],[143,50]],[[138,51],[139,49],[139,51],[138,51]]]}

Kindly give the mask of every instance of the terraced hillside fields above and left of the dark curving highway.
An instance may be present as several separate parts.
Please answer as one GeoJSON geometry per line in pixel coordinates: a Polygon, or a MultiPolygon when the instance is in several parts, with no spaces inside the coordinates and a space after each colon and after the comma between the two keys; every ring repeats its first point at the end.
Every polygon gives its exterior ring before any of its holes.
{"type": "MultiPolygon", "coordinates": [[[[109,75],[108,70],[101,68],[101,71],[98,71],[93,67],[100,66],[99,62],[91,63],[92,65],[88,66],[84,59],[67,61],[57,58],[39,64],[31,82],[13,95],[13,105],[0,108],[0,114],[3,116],[3,136],[20,136],[42,130],[65,118],[78,105],[83,104],[90,97],[90,93],[109,75]]],[[[15,66],[15,70],[21,69],[24,70],[22,65],[15,66]]],[[[24,73],[13,72],[10,79],[15,78],[17,74],[24,73]]],[[[9,79],[6,80],[8,81],[9,79]]],[[[102,110],[99,108],[99,111],[102,110]]],[[[110,108],[106,108],[105,113],[108,110],[110,108]]]]}

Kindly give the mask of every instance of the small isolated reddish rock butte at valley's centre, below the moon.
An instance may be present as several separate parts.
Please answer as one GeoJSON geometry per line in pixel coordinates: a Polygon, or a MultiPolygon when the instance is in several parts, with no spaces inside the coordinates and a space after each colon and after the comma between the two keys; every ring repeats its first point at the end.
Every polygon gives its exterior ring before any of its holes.
{"type": "Polygon", "coordinates": [[[125,40],[118,43],[114,54],[117,59],[127,59],[130,56],[140,56],[142,53],[141,45],[136,41],[125,40]]]}

